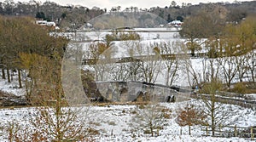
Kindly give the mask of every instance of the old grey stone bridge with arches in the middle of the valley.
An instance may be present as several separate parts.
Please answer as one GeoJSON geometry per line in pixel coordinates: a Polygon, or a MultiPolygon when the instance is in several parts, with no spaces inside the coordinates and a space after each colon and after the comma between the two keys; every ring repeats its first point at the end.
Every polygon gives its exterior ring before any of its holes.
{"type": "Polygon", "coordinates": [[[148,82],[96,82],[103,99],[114,102],[174,102],[176,88],[148,82]]]}

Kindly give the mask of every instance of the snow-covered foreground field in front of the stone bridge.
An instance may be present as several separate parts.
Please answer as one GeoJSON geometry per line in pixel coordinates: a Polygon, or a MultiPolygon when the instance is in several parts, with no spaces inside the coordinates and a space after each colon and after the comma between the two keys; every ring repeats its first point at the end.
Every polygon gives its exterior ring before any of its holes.
{"type": "MultiPolygon", "coordinates": [[[[177,117],[177,108],[183,107],[187,102],[179,103],[161,103],[160,105],[170,109],[171,116],[166,118],[166,125],[160,129],[159,136],[151,137],[150,134],[143,133],[142,130],[134,130],[131,123],[132,117],[135,116],[134,111],[139,111],[137,105],[106,105],[106,106],[90,106],[90,127],[98,130],[100,134],[95,135],[94,139],[98,142],[106,141],[223,141],[223,142],[242,142],[250,141],[250,139],[242,138],[213,138],[201,136],[204,132],[200,126],[193,126],[191,135],[189,135],[188,127],[180,127],[175,121],[177,117]],[[180,130],[182,129],[182,134],[180,130]]],[[[85,108],[85,107],[84,107],[85,108]]],[[[232,105],[236,111],[236,115],[230,116],[227,120],[232,125],[238,127],[249,127],[256,125],[255,111],[232,105]]],[[[87,107],[86,107],[87,109],[87,107]]],[[[25,128],[28,127],[28,120],[35,108],[15,108],[12,110],[0,110],[0,128],[8,126],[9,122],[17,122],[25,128]]],[[[82,111],[81,111],[82,112],[82,111]]],[[[85,115],[84,115],[85,116],[85,115]]],[[[86,116],[85,116],[86,117],[86,116]]],[[[0,129],[0,141],[8,141],[8,133],[0,129]]],[[[253,140],[252,140],[253,141],[253,140]]]]}

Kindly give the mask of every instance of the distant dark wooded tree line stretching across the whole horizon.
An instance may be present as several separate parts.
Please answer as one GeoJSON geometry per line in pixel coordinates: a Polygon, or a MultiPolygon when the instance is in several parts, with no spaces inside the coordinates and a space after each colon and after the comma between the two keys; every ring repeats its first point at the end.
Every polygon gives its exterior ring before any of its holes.
{"type": "MultiPolygon", "coordinates": [[[[239,22],[248,14],[256,13],[255,1],[241,3],[200,3],[198,5],[183,3],[181,6],[177,5],[175,1],[172,1],[170,6],[166,6],[165,8],[153,7],[149,9],[139,9],[131,6],[130,8],[125,8],[124,12],[149,12],[171,22],[172,20],[183,21],[184,18],[195,16],[201,13],[202,9],[211,8],[212,6],[213,8],[220,8],[219,10],[226,10],[227,16],[225,20],[232,22],[239,22]]],[[[116,6],[109,9],[109,11],[120,12],[120,9],[120,6],[116,6]]],[[[222,11],[219,12],[221,13],[222,11]]],[[[107,13],[107,9],[97,7],[89,9],[81,5],[61,6],[50,1],[41,3],[40,1],[32,0],[29,2],[15,3],[14,0],[5,0],[3,3],[0,3],[0,14],[2,15],[32,16],[42,20],[55,21],[57,26],[66,28],[79,28],[84,25],[84,22],[88,22],[104,13],[107,13]]]]}

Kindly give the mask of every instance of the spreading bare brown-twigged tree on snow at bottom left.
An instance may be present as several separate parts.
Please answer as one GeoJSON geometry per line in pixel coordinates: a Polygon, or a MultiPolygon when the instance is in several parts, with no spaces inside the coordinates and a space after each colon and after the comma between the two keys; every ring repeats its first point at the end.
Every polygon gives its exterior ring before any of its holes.
{"type": "Polygon", "coordinates": [[[52,107],[37,107],[30,112],[29,128],[18,122],[9,123],[10,141],[90,141],[97,131],[90,128],[90,107],[63,107],[56,113],[52,107]],[[86,117],[84,117],[86,116],[86,117]]]}

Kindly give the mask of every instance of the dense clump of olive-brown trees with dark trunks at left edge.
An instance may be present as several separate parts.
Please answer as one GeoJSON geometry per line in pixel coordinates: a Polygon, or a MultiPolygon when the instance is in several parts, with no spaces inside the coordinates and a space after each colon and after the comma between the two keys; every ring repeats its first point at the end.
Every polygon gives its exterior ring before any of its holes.
{"type": "Polygon", "coordinates": [[[47,29],[37,26],[34,20],[28,17],[0,17],[0,51],[3,52],[1,62],[5,66],[8,80],[9,71],[17,70],[19,73],[19,86],[22,87],[19,53],[39,54],[55,58],[55,54],[63,55],[67,46],[64,37],[49,36],[47,29]]]}

